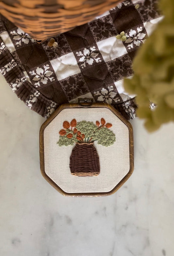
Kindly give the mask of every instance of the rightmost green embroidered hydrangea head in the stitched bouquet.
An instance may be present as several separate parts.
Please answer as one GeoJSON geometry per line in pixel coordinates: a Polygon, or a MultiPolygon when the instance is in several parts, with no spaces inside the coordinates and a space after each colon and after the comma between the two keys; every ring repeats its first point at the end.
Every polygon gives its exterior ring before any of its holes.
{"type": "Polygon", "coordinates": [[[98,144],[108,147],[116,141],[115,134],[106,127],[97,129],[93,135],[93,140],[98,140],[98,144]]]}

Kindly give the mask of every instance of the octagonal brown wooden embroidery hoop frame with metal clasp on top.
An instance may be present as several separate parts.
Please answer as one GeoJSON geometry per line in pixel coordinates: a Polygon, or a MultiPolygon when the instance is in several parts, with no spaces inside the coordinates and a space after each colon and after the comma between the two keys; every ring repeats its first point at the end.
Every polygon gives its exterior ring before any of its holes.
{"type": "Polygon", "coordinates": [[[55,112],[42,124],[40,127],[40,171],[42,176],[62,195],[64,196],[108,196],[115,193],[133,173],[134,170],[134,142],[133,142],[133,128],[114,107],[107,103],[93,103],[93,99],[79,99],[78,103],[63,104],[58,107],[55,112]],[[83,101],[83,103],[81,103],[83,101]],[[63,191],[45,172],[45,160],[44,160],[44,130],[51,123],[51,121],[64,109],[76,108],[106,108],[112,111],[128,128],[129,130],[129,159],[130,169],[129,172],[121,179],[121,181],[109,192],[94,192],[94,193],[67,193],[63,191]]]}

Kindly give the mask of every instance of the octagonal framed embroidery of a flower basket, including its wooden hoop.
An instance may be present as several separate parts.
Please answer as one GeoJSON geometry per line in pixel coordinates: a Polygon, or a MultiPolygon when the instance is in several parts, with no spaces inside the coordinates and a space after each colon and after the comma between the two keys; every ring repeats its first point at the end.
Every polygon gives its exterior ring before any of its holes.
{"type": "Polygon", "coordinates": [[[63,104],[40,128],[40,169],[65,196],[113,194],[134,169],[132,126],[108,104],[63,104]]]}

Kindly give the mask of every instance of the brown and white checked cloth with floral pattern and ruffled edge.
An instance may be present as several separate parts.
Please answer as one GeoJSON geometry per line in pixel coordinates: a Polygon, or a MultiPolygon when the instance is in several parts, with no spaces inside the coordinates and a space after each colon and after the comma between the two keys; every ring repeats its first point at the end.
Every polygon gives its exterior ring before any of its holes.
{"type": "Polygon", "coordinates": [[[47,46],[49,39],[38,44],[1,16],[0,72],[20,99],[46,118],[60,104],[87,97],[107,102],[132,119],[134,95],[124,92],[123,79],[133,75],[136,50],[159,20],[156,1],[125,1],[54,37],[54,48],[47,46]],[[116,38],[122,31],[124,42],[116,38]]]}

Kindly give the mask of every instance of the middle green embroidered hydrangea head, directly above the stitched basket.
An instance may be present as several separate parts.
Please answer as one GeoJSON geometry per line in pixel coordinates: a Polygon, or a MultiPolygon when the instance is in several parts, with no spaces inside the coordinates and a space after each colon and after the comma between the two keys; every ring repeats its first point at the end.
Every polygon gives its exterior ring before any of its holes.
{"type": "Polygon", "coordinates": [[[98,128],[93,122],[81,121],[76,125],[78,131],[85,134],[85,137],[93,137],[95,130],[98,128]]]}

